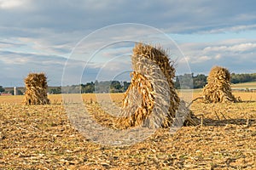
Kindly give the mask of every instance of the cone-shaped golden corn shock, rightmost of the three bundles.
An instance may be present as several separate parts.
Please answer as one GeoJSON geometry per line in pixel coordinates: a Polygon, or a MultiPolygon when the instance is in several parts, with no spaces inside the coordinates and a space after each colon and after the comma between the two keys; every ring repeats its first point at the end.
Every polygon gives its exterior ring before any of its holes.
{"type": "Polygon", "coordinates": [[[230,71],[220,66],[212,67],[202,94],[205,103],[236,102],[231,93],[230,71]]]}

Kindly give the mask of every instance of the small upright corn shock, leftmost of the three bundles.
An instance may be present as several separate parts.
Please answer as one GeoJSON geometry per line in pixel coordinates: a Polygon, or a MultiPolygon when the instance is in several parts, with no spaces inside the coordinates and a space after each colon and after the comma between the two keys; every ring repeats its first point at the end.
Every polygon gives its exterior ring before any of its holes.
{"type": "Polygon", "coordinates": [[[24,80],[26,105],[49,105],[47,98],[47,81],[44,73],[30,73],[24,80]]]}

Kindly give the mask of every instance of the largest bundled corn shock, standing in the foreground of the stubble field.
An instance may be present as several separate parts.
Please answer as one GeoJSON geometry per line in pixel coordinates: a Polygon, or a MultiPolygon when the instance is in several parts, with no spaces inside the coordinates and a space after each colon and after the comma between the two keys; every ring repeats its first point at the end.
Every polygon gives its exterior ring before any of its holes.
{"type": "Polygon", "coordinates": [[[181,121],[176,116],[182,116],[186,125],[200,123],[188,108],[179,108],[180,99],[172,82],[175,69],[165,51],[138,43],[131,61],[134,72],[125,92],[119,125],[170,127],[181,121]]]}

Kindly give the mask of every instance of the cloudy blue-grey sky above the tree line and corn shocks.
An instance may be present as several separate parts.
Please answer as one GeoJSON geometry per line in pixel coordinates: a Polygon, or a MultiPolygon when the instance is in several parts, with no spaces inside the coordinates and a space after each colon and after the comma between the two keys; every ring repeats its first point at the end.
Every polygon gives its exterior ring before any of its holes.
{"type": "Polygon", "coordinates": [[[251,0],[0,0],[0,85],[24,86],[44,72],[49,86],[129,81],[136,42],[160,45],[176,74],[213,65],[256,72],[256,2],[251,0]]]}

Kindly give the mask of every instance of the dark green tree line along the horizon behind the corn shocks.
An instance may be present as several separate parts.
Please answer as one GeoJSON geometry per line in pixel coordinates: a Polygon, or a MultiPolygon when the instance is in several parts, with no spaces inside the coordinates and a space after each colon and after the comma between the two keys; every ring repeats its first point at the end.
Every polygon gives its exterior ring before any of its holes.
{"type": "MultiPolygon", "coordinates": [[[[256,82],[256,73],[252,74],[235,74],[230,75],[231,83],[241,82],[256,82]]],[[[102,82],[87,82],[79,85],[72,85],[66,87],[49,87],[49,94],[90,94],[90,93],[124,93],[131,82],[119,82],[119,81],[102,81],[102,82]]],[[[203,88],[207,84],[207,76],[204,74],[194,75],[183,74],[174,78],[174,88],[176,89],[188,89],[188,88],[203,88]]],[[[0,86],[0,93],[14,94],[13,90],[7,91],[3,86],[0,86]]],[[[20,90],[18,94],[23,94],[20,90]]]]}

